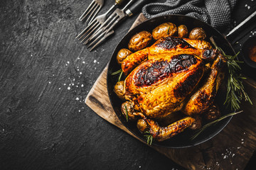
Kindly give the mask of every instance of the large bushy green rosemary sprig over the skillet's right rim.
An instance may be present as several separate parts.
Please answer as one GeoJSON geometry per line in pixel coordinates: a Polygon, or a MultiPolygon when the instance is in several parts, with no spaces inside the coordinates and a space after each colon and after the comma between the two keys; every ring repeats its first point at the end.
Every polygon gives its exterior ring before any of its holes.
{"type": "Polygon", "coordinates": [[[240,103],[243,98],[245,99],[245,101],[249,101],[252,104],[250,97],[247,95],[247,93],[245,92],[245,88],[242,85],[242,80],[246,79],[245,77],[242,77],[241,67],[238,64],[242,62],[235,60],[238,57],[239,52],[234,56],[226,55],[225,52],[216,45],[213,37],[210,38],[210,41],[213,43],[215,48],[223,54],[223,57],[228,60],[227,64],[229,74],[227,94],[224,102],[225,106],[230,106],[232,111],[237,111],[238,109],[240,109],[240,103]]]}

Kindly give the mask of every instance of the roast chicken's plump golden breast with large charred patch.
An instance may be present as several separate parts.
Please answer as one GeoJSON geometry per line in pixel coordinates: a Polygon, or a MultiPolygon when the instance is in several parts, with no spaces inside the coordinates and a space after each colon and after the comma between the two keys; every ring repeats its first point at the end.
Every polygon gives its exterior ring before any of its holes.
{"type": "Polygon", "coordinates": [[[148,60],[125,79],[125,98],[138,103],[146,117],[162,118],[181,109],[203,72],[203,61],[194,55],[148,60]]]}

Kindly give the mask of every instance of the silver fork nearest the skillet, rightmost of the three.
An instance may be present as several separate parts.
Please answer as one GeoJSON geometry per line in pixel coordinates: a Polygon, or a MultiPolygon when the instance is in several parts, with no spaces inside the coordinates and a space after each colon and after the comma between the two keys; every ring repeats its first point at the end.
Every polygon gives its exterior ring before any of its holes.
{"type": "MultiPolygon", "coordinates": [[[[134,2],[135,0],[130,0],[129,3],[124,6],[124,8],[119,9],[116,8],[114,10],[114,12],[111,14],[110,17],[107,18],[107,20],[102,23],[102,25],[100,26],[100,28],[97,28],[97,30],[95,31],[95,33],[93,33],[90,38],[87,38],[87,40],[83,43],[83,45],[86,45],[88,42],[92,41],[93,39],[95,39],[98,35],[102,35],[102,33],[107,33],[106,30],[109,29],[110,27],[114,26],[114,23],[118,23],[119,21],[122,20],[122,18],[124,18],[125,13],[124,11],[127,10],[127,8],[134,2]]],[[[100,38],[100,36],[97,37],[97,39],[100,38]]]]}

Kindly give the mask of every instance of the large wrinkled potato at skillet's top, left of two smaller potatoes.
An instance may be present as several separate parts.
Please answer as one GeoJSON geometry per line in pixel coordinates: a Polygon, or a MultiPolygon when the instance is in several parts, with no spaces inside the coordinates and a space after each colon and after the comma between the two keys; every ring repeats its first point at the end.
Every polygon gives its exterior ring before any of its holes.
{"type": "Polygon", "coordinates": [[[160,38],[166,38],[171,35],[177,35],[178,28],[174,23],[162,23],[161,25],[154,28],[152,31],[152,36],[154,40],[159,40],[160,38]]]}

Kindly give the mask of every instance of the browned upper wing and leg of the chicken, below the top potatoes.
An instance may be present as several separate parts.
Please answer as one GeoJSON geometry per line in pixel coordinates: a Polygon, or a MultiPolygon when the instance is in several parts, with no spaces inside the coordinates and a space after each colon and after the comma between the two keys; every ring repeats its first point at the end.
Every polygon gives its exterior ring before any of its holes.
{"type": "Polygon", "coordinates": [[[168,55],[198,55],[202,56],[204,49],[211,49],[210,43],[204,40],[189,40],[186,38],[167,37],[157,40],[151,47],[134,52],[122,62],[122,71],[129,74],[145,60],[151,60],[168,55]]]}

